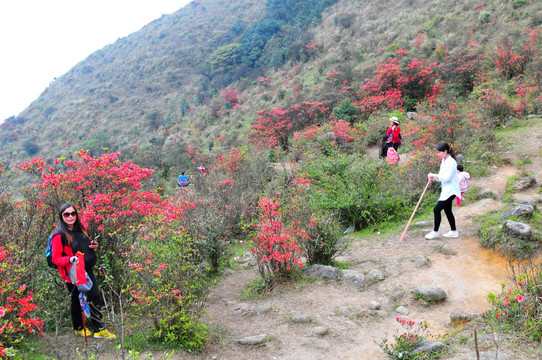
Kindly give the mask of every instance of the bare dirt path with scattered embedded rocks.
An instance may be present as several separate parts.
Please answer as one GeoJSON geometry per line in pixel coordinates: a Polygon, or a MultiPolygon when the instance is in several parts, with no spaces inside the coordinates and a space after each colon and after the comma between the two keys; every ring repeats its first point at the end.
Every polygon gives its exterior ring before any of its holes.
{"type": "MultiPolygon", "coordinates": [[[[506,181],[516,173],[514,167],[503,167],[491,178],[472,185],[491,189],[502,197],[506,181]]],[[[281,289],[261,300],[242,302],[239,295],[256,277],[252,270],[236,270],[225,276],[212,290],[204,321],[217,335],[215,343],[199,356],[202,359],[385,359],[376,344],[390,338],[397,329],[397,316],[414,321],[428,321],[430,332],[440,336],[453,331],[450,314],[454,311],[484,311],[489,308],[488,292],[498,292],[508,281],[506,264],[490,251],[478,246],[471,226],[472,218],[502,204],[491,199],[464,203],[454,208],[459,239],[425,240],[420,229],[408,231],[403,243],[397,233],[357,238],[348,253],[338,260],[348,262],[350,269],[368,272],[380,269],[385,280],[363,289],[342,281],[315,281],[281,289]],[[449,244],[456,255],[444,255],[439,248],[449,244]],[[417,255],[430,259],[431,265],[417,268],[417,255]],[[437,285],[447,300],[435,306],[423,306],[412,299],[410,289],[420,285],[437,285]],[[371,311],[371,301],[381,310],[371,311]],[[407,316],[396,312],[406,307],[407,316]],[[258,315],[259,309],[270,311],[258,315]],[[310,316],[308,324],[296,324],[294,316],[310,316]],[[328,332],[314,335],[317,327],[328,332]],[[238,345],[236,339],[266,334],[270,340],[260,346],[238,345]]],[[[447,231],[443,221],[443,231],[447,231]]],[[[525,357],[523,357],[525,358],[525,357]]]]}

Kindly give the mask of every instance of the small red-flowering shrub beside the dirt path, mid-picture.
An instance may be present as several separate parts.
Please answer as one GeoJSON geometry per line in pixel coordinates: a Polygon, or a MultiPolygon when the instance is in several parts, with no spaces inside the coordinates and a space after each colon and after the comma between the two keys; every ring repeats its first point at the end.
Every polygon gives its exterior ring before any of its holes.
{"type": "Polygon", "coordinates": [[[256,225],[257,234],[253,240],[252,253],[256,257],[260,276],[272,284],[288,278],[304,265],[299,242],[307,235],[295,222],[289,228],[285,227],[278,201],[261,198],[259,207],[262,213],[256,225]]]}

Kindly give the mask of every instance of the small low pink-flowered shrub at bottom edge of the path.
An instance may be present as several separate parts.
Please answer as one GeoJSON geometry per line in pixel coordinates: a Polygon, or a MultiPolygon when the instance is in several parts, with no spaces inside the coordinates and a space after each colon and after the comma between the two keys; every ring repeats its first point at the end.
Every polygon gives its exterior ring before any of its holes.
{"type": "Polygon", "coordinates": [[[418,360],[429,358],[428,354],[419,353],[415,349],[427,337],[427,322],[416,324],[412,320],[395,319],[403,328],[403,332],[393,335],[393,343],[383,338],[378,344],[391,359],[418,360]]]}

